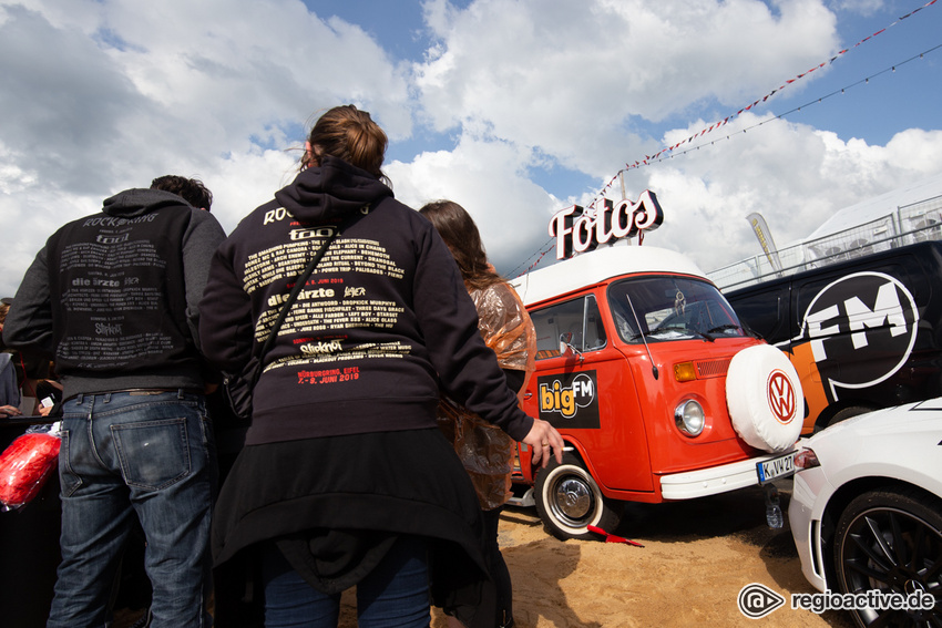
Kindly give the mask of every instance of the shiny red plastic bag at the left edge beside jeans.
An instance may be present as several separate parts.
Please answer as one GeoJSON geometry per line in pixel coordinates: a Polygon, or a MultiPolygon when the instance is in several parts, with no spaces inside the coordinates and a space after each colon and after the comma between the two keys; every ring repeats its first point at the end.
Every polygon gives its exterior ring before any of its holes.
{"type": "Polygon", "coordinates": [[[27,432],[0,454],[0,506],[9,511],[32,501],[59,464],[57,432],[27,432]]]}

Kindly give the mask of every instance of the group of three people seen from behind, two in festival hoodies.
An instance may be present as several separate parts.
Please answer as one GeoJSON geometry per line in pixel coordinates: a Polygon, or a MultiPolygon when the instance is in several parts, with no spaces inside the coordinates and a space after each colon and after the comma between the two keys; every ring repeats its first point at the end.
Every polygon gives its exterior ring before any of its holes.
{"type": "Polygon", "coordinates": [[[513,625],[514,442],[543,466],[563,449],[520,408],[533,327],[468,212],[396,200],[386,146],[337,106],[228,236],[202,182],[167,175],[49,237],[0,310],[0,419],[61,424],[48,627],[111,620],[135,531],[154,628],[335,627],[351,587],[364,627],[432,606],[513,625]],[[247,422],[223,401],[239,382],[247,422]]]}

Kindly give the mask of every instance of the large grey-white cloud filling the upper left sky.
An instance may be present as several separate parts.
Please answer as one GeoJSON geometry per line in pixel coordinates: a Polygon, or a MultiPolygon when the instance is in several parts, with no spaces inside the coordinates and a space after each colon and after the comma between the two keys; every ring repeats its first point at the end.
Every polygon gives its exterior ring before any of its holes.
{"type": "Polygon", "coordinates": [[[296,154],[278,151],[319,110],[354,102],[410,135],[407,71],[297,0],[0,3],[0,228],[19,251],[2,291],[54,230],[35,217],[52,202],[58,226],[175,173],[202,178],[234,225],[286,182],[296,154]]]}

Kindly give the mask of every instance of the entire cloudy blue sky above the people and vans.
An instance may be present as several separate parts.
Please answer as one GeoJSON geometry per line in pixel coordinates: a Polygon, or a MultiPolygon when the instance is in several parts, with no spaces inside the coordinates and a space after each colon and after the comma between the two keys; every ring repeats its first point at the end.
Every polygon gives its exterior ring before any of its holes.
{"type": "Polygon", "coordinates": [[[0,0],[0,292],[162,174],[231,230],[346,103],[397,197],[462,204],[504,274],[621,171],[664,208],[645,245],[714,270],[760,253],[752,212],[782,247],[942,173],[940,47],[934,0],[0,0]]]}

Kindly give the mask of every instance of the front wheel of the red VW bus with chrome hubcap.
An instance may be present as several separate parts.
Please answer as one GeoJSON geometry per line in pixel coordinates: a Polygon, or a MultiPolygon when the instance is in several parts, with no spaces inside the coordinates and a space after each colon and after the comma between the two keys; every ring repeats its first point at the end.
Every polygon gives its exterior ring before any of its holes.
{"type": "Polygon", "coordinates": [[[623,503],[607,500],[582,462],[563,454],[563,463],[552,461],[536,475],[536,512],[546,532],[561,541],[598,538],[586,526],[614,532],[622,518],[623,503]]]}

